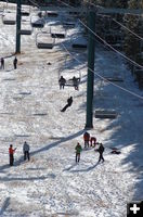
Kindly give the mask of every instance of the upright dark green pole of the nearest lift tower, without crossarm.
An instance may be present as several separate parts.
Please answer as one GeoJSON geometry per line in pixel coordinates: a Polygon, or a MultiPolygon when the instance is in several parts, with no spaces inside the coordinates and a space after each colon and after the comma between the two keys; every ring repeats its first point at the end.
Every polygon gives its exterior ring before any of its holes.
{"type": "MultiPolygon", "coordinates": [[[[89,12],[88,26],[94,33],[95,31],[95,12],[89,12]]],[[[93,90],[94,90],[94,34],[88,29],[89,47],[88,47],[88,80],[87,80],[87,120],[86,128],[93,128],[93,90]]]]}

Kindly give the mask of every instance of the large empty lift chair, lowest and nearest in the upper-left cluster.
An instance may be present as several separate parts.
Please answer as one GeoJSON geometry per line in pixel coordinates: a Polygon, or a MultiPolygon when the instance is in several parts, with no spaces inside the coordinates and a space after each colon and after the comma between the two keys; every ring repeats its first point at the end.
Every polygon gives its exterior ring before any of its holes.
{"type": "Polygon", "coordinates": [[[49,33],[38,33],[36,35],[36,44],[39,49],[52,49],[55,44],[55,39],[49,33]]]}

